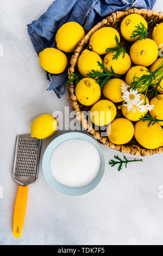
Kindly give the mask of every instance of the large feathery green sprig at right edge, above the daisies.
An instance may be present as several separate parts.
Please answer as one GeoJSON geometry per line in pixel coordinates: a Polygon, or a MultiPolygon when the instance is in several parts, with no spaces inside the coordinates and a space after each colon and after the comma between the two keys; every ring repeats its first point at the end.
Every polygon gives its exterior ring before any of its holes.
{"type": "MultiPolygon", "coordinates": [[[[146,104],[146,96],[147,93],[150,93],[151,96],[158,96],[158,86],[163,78],[163,60],[155,69],[155,71],[147,71],[147,75],[143,75],[141,77],[137,77],[134,75],[133,82],[131,82],[130,86],[135,90],[138,90],[139,93],[145,92],[145,104],[146,104]],[[156,81],[154,83],[154,81],[156,81]],[[154,87],[153,87],[154,86],[154,87]]],[[[161,86],[160,86],[161,87],[161,86]]],[[[161,87],[162,88],[162,87],[161,87]]]]}

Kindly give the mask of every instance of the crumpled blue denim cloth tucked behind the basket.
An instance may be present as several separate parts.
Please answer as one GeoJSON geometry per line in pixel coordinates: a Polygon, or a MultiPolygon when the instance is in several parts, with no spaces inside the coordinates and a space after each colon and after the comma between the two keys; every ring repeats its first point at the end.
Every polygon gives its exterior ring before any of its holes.
{"type": "MultiPolygon", "coordinates": [[[[156,0],[55,0],[39,20],[28,26],[28,33],[36,52],[55,47],[55,33],[68,21],[76,21],[88,32],[103,17],[114,11],[132,7],[152,9],[156,0]]],[[[71,54],[67,54],[70,59],[71,54]]],[[[67,70],[59,75],[48,74],[48,90],[54,90],[58,97],[65,92],[67,70]]]]}

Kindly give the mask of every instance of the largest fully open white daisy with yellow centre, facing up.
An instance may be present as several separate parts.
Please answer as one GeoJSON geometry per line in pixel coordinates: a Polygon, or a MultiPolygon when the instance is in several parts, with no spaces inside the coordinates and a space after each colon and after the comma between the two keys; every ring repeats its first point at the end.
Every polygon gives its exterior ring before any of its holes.
{"type": "Polygon", "coordinates": [[[130,105],[136,105],[140,102],[140,94],[137,90],[130,89],[123,93],[123,100],[130,105]]]}

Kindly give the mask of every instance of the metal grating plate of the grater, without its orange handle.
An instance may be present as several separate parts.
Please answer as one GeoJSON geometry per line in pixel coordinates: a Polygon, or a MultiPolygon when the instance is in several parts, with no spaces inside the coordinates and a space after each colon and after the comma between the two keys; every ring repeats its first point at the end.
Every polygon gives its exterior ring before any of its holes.
{"type": "Polygon", "coordinates": [[[18,135],[12,179],[21,186],[37,181],[41,139],[18,135]]]}

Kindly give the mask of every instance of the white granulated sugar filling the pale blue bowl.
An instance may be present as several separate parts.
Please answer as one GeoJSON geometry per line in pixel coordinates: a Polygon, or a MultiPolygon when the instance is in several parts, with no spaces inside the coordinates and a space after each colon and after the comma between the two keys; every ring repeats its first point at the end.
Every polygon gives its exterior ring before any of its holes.
{"type": "Polygon", "coordinates": [[[69,139],[53,151],[51,171],[68,187],[82,187],[96,178],[101,160],[95,146],[84,139],[69,139]]]}

